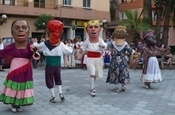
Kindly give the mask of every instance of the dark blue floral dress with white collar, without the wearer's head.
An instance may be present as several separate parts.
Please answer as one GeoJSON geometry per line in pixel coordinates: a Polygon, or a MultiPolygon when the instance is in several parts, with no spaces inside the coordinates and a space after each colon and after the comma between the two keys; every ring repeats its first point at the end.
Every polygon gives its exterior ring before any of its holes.
{"type": "Polygon", "coordinates": [[[111,49],[111,62],[106,83],[126,84],[130,79],[126,56],[131,55],[132,48],[127,42],[122,46],[116,46],[115,42],[112,42],[109,47],[111,49]]]}

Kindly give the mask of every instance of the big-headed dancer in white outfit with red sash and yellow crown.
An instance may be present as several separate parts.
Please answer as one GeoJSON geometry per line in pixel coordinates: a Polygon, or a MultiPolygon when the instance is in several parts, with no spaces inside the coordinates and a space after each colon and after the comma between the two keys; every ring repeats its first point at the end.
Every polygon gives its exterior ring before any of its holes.
{"type": "Polygon", "coordinates": [[[88,33],[86,40],[82,44],[82,50],[86,53],[86,67],[90,75],[90,94],[96,95],[95,80],[103,77],[103,56],[102,50],[107,48],[107,44],[99,37],[101,27],[100,20],[90,20],[85,23],[88,33]]]}

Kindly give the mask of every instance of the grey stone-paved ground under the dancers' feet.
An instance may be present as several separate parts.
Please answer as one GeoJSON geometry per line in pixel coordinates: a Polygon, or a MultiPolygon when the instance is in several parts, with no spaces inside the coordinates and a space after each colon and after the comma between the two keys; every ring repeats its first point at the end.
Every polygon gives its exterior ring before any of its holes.
{"type": "MultiPolygon", "coordinates": [[[[130,70],[131,84],[125,92],[113,92],[104,77],[97,79],[97,96],[89,94],[87,70],[63,69],[65,102],[57,96],[57,103],[50,103],[50,93],[44,82],[44,68],[34,69],[35,103],[23,107],[22,112],[12,113],[10,105],[0,103],[0,115],[175,115],[175,70],[161,70],[163,81],[145,89],[139,78],[141,70],[130,70]]],[[[0,89],[8,72],[0,72],[0,89]]],[[[55,90],[57,91],[57,90],[55,90]]],[[[56,92],[58,94],[58,91],[56,92]]]]}

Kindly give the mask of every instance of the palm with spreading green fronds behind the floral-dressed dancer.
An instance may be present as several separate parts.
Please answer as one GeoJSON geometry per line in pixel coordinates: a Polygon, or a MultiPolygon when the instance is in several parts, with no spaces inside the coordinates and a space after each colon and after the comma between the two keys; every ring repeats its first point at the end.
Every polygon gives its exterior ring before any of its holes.
{"type": "Polygon", "coordinates": [[[138,40],[141,39],[140,33],[146,32],[151,29],[151,25],[144,22],[141,19],[141,15],[138,15],[137,11],[132,12],[131,10],[125,10],[126,19],[120,20],[119,24],[127,27],[129,37],[128,40],[131,40],[137,45],[138,40]]]}

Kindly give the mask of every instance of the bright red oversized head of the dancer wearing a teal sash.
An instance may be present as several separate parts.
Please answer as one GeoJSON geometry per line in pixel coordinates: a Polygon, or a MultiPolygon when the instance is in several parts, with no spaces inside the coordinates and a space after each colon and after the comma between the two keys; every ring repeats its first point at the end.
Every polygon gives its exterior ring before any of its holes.
{"type": "Polygon", "coordinates": [[[63,23],[59,20],[50,20],[47,23],[47,29],[51,34],[49,38],[51,45],[56,45],[60,42],[63,26],[63,23]]]}

